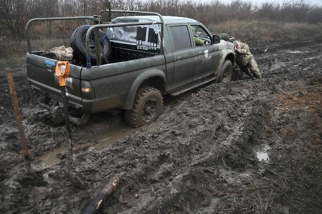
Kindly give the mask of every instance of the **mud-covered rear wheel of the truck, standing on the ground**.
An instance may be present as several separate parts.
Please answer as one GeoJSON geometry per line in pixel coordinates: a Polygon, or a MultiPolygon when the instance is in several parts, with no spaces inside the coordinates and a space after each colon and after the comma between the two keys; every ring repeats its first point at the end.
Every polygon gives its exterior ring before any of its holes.
{"type": "Polygon", "coordinates": [[[162,108],[161,92],[154,87],[143,86],[138,89],[132,109],[125,110],[125,119],[133,127],[142,127],[156,121],[162,108]]]}

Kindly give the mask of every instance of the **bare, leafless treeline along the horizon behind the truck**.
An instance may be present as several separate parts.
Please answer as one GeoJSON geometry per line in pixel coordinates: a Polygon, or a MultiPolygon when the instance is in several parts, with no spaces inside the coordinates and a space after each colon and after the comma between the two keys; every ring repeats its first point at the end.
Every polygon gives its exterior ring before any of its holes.
{"type": "MultiPolygon", "coordinates": [[[[103,0],[0,0],[0,38],[23,38],[28,20],[36,17],[95,15],[103,0]]],[[[183,16],[206,25],[226,21],[322,22],[322,6],[305,0],[254,4],[233,0],[112,0],[112,9],[142,10],[183,16]]]]}

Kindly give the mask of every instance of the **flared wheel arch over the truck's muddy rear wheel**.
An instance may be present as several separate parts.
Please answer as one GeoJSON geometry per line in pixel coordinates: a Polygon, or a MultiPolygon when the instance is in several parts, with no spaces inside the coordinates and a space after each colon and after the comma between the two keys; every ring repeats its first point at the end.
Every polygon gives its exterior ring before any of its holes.
{"type": "Polygon", "coordinates": [[[121,108],[131,109],[133,107],[134,98],[140,86],[152,86],[160,90],[162,94],[165,94],[164,72],[158,69],[152,69],[138,75],[121,108]]]}

